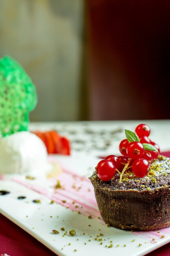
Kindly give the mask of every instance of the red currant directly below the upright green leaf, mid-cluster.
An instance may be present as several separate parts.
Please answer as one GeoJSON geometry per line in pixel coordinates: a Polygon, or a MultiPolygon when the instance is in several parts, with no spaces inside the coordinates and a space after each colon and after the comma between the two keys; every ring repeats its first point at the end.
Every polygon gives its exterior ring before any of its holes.
{"type": "Polygon", "coordinates": [[[144,155],[144,146],[137,141],[130,142],[127,146],[127,155],[132,159],[137,159],[144,155]]]}

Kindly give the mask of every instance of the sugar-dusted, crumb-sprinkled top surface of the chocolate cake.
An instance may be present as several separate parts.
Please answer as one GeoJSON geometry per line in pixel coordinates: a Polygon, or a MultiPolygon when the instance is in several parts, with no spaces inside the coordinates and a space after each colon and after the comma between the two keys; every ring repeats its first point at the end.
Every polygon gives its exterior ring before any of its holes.
{"type": "Polygon", "coordinates": [[[159,155],[158,159],[150,165],[150,171],[145,177],[139,178],[132,171],[127,170],[120,183],[119,178],[119,173],[116,173],[111,180],[102,181],[94,172],[90,180],[95,186],[112,191],[137,190],[140,192],[170,186],[170,158],[159,155]]]}

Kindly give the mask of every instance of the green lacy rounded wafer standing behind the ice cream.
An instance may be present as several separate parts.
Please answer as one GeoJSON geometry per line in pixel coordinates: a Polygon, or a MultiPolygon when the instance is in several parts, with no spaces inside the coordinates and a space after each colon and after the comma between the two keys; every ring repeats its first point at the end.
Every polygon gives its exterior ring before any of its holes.
{"type": "Polygon", "coordinates": [[[0,135],[27,131],[36,104],[35,85],[23,68],[9,56],[0,59],[0,135]]]}

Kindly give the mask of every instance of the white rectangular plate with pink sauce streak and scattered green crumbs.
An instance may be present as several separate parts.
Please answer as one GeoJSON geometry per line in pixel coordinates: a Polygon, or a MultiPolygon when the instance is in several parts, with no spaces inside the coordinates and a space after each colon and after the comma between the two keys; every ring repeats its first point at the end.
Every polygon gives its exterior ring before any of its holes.
{"type": "Polygon", "coordinates": [[[0,212],[51,251],[59,256],[95,255],[96,251],[98,256],[141,256],[170,242],[170,228],[160,229],[160,233],[130,232],[107,227],[98,218],[93,186],[86,178],[98,162],[96,157],[88,157],[86,161],[81,155],[78,159],[53,156],[51,160],[65,168],[54,179],[47,180],[42,174],[35,180],[28,180],[25,175],[0,180],[0,190],[11,192],[0,195],[0,212]],[[54,190],[57,180],[62,189],[54,190]],[[18,196],[26,198],[18,200],[18,196]],[[51,200],[55,202],[51,204],[51,200]],[[89,219],[90,215],[93,218],[89,219]],[[54,234],[53,229],[59,234],[54,234]],[[72,229],[76,231],[75,236],[69,234],[72,229]],[[113,247],[108,248],[111,244],[113,247]]]}

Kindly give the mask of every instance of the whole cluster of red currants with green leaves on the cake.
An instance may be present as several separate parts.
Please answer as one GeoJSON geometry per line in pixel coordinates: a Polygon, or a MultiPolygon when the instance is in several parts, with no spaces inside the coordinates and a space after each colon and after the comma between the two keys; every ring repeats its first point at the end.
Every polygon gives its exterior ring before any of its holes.
{"type": "Polygon", "coordinates": [[[150,128],[146,124],[139,124],[135,132],[125,130],[126,138],[120,142],[119,151],[122,156],[108,155],[96,166],[99,179],[107,181],[113,178],[115,172],[120,174],[121,182],[126,170],[133,171],[137,177],[144,177],[150,164],[157,159],[159,146],[149,139],[150,128]]]}

